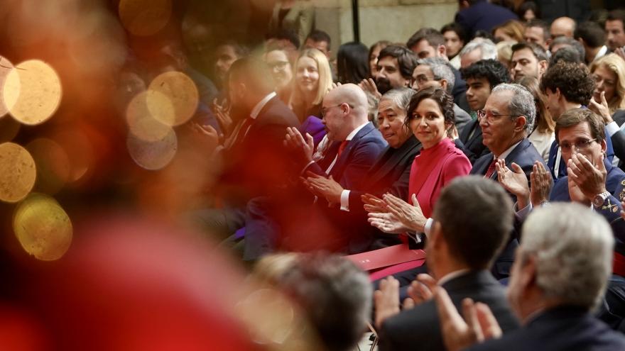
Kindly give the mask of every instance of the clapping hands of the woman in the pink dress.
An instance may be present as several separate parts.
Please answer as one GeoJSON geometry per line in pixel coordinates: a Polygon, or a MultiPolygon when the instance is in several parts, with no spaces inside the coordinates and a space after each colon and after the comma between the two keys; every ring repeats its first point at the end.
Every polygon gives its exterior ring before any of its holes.
{"type": "Polygon", "coordinates": [[[384,233],[423,233],[428,218],[423,216],[415,194],[412,196],[413,205],[391,194],[384,194],[382,199],[364,194],[361,199],[364,210],[369,212],[369,223],[384,233]]]}

